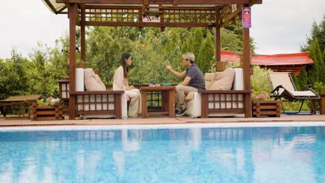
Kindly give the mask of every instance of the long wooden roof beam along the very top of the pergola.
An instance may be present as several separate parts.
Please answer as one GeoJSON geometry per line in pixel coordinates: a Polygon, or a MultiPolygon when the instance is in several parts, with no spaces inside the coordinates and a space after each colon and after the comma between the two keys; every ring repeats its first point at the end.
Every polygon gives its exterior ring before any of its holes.
{"type": "Polygon", "coordinates": [[[144,4],[144,3],[170,3],[178,5],[185,4],[260,4],[263,0],[171,0],[171,1],[151,1],[151,0],[56,0],[56,3],[93,3],[93,4],[144,4]]]}

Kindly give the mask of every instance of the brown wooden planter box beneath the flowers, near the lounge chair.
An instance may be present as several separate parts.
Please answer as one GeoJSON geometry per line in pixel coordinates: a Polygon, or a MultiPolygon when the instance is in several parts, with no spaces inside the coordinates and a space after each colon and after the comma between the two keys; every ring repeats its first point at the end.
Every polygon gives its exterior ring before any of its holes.
{"type": "Polygon", "coordinates": [[[251,107],[253,108],[253,117],[280,117],[282,114],[281,103],[281,101],[252,101],[251,107]]]}

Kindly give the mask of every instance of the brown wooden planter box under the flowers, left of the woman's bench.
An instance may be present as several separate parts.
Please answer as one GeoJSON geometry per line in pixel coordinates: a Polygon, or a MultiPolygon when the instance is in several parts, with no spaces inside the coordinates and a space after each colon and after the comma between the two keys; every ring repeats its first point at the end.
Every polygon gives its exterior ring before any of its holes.
{"type": "Polygon", "coordinates": [[[30,106],[31,120],[62,120],[63,119],[63,104],[56,103],[55,105],[38,105],[33,103],[30,106]]]}

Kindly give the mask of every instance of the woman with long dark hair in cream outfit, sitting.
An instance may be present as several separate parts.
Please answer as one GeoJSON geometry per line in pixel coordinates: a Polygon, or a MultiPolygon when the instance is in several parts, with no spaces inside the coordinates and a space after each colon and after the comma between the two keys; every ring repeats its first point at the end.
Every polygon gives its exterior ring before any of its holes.
{"type": "Polygon", "coordinates": [[[128,116],[136,117],[141,114],[141,94],[139,89],[133,85],[128,85],[128,67],[132,64],[132,57],[129,53],[123,53],[121,57],[121,66],[117,68],[114,74],[113,90],[124,90],[130,105],[128,106],[128,116]]]}

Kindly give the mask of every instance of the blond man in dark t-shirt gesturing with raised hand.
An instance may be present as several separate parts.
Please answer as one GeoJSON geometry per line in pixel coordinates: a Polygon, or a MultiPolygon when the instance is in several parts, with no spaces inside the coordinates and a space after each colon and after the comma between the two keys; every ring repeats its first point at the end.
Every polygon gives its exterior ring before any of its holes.
{"type": "Polygon", "coordinates": [[[205,90],[206,82],[203,73],[194,63],[195,56],[193,53],[184,53],[182,55],[183,66],[186,70],[179,73],[174,71],[170,64],[165,63],[165,67],[171,71],[177,78],[185,78],[183,82],[176,86],[175,103],[176,103],[176,116],[184,116],[188,110],[185,105],[185,96],[190,92],[197,92],[198,89],[205,90]]]}

